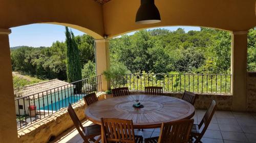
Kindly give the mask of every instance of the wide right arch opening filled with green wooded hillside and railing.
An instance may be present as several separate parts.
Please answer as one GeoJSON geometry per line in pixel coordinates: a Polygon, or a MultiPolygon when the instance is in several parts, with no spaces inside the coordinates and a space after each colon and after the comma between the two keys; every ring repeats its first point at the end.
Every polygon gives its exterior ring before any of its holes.
{"type": "Polygon", "coordinates": [[[113,85],[231,93],[230,51],[230,33],[213,28],[156,28],[119,36],[110,40],[111,69],[126,73],[113,85]]]}

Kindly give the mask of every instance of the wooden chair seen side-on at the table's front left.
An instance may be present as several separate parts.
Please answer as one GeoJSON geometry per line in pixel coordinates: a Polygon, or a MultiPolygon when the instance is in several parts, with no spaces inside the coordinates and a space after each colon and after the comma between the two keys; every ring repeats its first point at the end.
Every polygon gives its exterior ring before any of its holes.
{"type": "Polygon", "coordinates": [[[101,135],[101,126],[100,125],[91,125],[87,127],[83,127],[81,122],[79,121],[78,117],[76,116],[76,113],[74,109],[72,108],[72,105],[69,103],[68,107],[69,115],[75,124],[75,127],[78,131],[78,133],[81,135],[82,139],[86,143],[90,143],[89,139],[91,139],[94,142],[99,142],[101,137],[99,137],[97,140],[94,139],[95,136],[101,135]]]}

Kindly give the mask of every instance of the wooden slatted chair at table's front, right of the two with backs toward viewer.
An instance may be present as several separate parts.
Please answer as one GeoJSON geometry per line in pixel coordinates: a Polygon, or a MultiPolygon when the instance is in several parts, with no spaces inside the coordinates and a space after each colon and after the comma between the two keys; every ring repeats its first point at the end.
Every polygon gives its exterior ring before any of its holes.
{"type": "Polygon", "coordinates": [[[181,143],[187,142],[194,119],[162,123],[159,137],[145,138],[145,143],[181,143]]]}

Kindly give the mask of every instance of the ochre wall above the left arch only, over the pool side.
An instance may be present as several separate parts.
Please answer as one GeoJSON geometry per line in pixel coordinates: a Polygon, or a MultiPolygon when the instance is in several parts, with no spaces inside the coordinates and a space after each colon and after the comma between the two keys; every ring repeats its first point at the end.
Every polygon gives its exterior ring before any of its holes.
{"type": "Polygon", "coordinates": [[[104,34],[102,6],[92,0],[0,0],[0,17],[0,28],[50,22],[77,28],[96,39],[104,34]]]}

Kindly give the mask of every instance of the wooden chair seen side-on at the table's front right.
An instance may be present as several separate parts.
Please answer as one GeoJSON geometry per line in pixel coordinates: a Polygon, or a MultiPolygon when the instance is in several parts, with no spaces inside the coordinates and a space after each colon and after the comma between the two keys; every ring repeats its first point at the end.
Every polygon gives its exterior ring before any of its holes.
{"type": "Polygon", "coordinates": [[[195,142],[202,142],[201,138],[203,137],[205,131],[207,130],[212,116],[214,116],[214,112],[217,108],[215,100],[212,100],[210,106],[208,107],[202,121],[199,125],[194,124],[190,133],[190,142],[192,142],[193,137],[196,139],[195,142]],[[204,125],[203,130],[200,132],[201,127],[204,125]]]}

